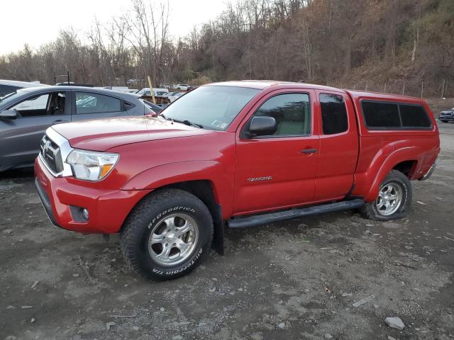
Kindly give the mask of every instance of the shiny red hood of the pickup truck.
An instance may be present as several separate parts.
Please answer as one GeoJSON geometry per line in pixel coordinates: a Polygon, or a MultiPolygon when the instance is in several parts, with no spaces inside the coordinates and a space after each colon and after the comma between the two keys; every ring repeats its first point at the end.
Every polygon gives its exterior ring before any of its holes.
{"type": "Polygon", "coordinates": [[[104,118],[53,125],[52,129],[77,149],[106,151],[112,147],[150,140],[206,135],[202,130],[150,116],[104,118]]]}

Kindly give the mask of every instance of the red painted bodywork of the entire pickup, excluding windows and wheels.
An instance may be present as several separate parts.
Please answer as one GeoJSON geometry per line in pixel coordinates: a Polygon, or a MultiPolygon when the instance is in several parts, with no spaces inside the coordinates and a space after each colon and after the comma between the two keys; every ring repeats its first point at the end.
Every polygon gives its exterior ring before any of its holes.
{"type": "MultiPolygon", "coordinates": [[[[343,91],[327,86],[278,81],[236,81],[260,92],[226,131],[202,130],[163,118],[116,118],[62,124],[55,130],[74,148],[116,152],[114,170],[103,181],[55,178],[37,159],[35,176],[48,194],[57,223],[77,232],[118,232],[131,209],[146,195],[184,181],[209,181],[222,218],[342,200],[350,193],[375,200],[391,169],[415,161],[411,179],[420,179],[440,149],[433,115],[419,98],[343,91]],[[240,132],[260,105],[275,94],[306,93],[311,98],[311,134],[244,139],[240,132]],[[348,131],[323,135],[320,94],[344,98],[348,131]],[[362,99],[419,103],[432,130],[367,130],[362,99]],[[301,150],[317,149],[314,154],[301,150]],[[270,177],[267,181],[250,181],[270,177]],[[353,190],[353,191],[352,191],[353,190]],[[351,192],[350,192],[351,191],[351,192]],[[74,222],[70,205],[89,208],[89,222],[74,222]]],[[[195,90],[196,91],[196,90],[195,90]]]]}

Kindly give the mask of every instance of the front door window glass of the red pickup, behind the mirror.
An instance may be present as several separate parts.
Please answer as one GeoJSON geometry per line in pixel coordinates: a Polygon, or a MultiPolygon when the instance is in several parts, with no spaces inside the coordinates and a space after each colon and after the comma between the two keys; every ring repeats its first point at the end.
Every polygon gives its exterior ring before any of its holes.
{"type": "Polygon", "coordinates": [[[309,135],[311,133],[309,94],[279,94],[260,106],[254,116],[267,116],[277,121],[275,136],[309,135]]]}

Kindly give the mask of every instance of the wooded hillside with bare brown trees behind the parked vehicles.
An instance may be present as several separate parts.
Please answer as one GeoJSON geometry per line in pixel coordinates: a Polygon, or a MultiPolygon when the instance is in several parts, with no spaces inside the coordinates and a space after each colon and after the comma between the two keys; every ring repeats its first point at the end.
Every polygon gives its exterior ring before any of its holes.
{"type": "Polygon", "coordinates": [[[0,79],[53,84],[69,71],[77,82],[123,86],[150,74],[156,84],[280,79],[454,96],[453,0],[238,0],[179,40],[170,21],[168,4],[133,0],[86,35],[64,30],[0,57],[0,79]]]}

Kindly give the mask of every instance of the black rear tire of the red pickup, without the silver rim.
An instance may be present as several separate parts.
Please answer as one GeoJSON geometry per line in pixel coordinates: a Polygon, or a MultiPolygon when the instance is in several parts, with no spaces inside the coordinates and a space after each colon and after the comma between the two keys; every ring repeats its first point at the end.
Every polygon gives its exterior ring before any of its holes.
{"type": "Polygon", "coordinates": [[[366,203],[361,210],[362,215],[364,215],[366,218],[376,221],[396,220],[398,218],[404,217],[405,212],[410,208],[412,193],[411,183],[408,177],[405,176],[405,174],[402,174],[402,172],[400,171],[392,170],[389,171],[389,174],[386,176],[386,178],[380,185],[380,189],[386,186],[388,183],[396,183],[402,188],[403,198],[399,209],[392,215],[384,216],[377,211],[375,201],[371,203],[366,203]]]}

